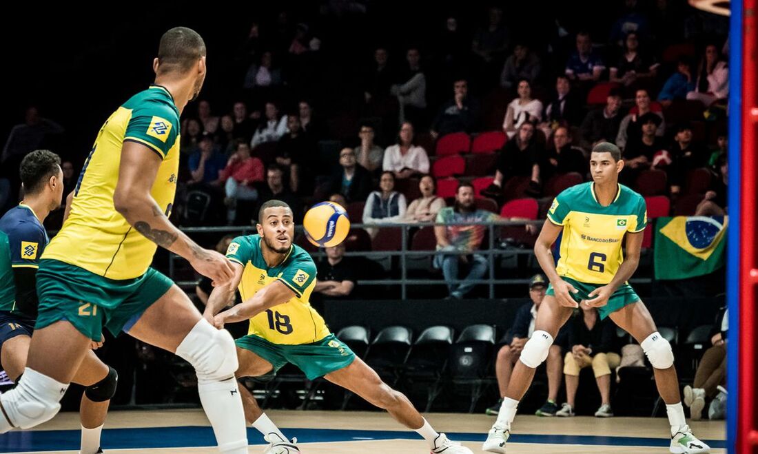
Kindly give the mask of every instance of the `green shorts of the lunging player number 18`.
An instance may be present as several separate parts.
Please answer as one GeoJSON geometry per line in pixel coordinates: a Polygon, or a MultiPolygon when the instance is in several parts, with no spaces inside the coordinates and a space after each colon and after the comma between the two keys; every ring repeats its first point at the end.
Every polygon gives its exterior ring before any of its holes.
{"type": "Polygon", "coordinates": [[[249,350],[274,366],[274,373],[288,362],[296,365],[309,380],[324,377],[349,366],[356,354],[341,340],[330,334],[315,343],[280,345],[255,334],[234,341],[240,349],[249,350]]]}

